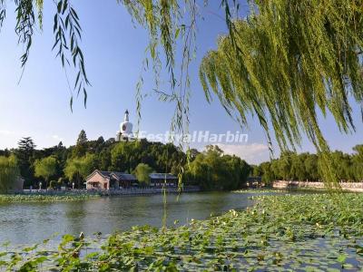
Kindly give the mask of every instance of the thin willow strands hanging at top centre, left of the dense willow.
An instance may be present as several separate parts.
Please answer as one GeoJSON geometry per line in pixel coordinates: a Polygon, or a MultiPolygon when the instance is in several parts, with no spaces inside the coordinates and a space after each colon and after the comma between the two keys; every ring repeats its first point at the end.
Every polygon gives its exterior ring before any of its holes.
{"type": "MultiPolygon", "coordinates": [[[[141,24],[149,33],[149,45],[143,70],[149,67],[149,58],[152,60],[152,71],[155,77],[154,93],[159,99],[175,103],[175,112],[172,118],[171,130],[187,133],[189,127],[189,97],[190,97],[190,75],[189,64],[195,55],[196,17],[198,8],[196,0],[185,0],[184,11],[178,1],[140,1],[140,0],[118,0],[128,9],[132,18],[141,24]],[[176,73],[176,46],[181,40],[182,56],[181,66],[176,73]],[[168,82],[169,92],[162,92],[160,86],[160,73],[162,69],[161,54],[165,57],[165,66],[170,75],[168,82]]],[[[141,117],[143,78],[136,86],[137,112],[141,117]]],[[[170,139],[173,141],[173,139],[170,139]]],[[[183,142],[180,142],[181,151],[183,142]]],[[[182,155],[180,160],[182,160],[182,155]]],[[[182,170],[183,171],[183,170],[182,170]]],[[[182,183],[182,173],[180,174],[182,183]]]]}

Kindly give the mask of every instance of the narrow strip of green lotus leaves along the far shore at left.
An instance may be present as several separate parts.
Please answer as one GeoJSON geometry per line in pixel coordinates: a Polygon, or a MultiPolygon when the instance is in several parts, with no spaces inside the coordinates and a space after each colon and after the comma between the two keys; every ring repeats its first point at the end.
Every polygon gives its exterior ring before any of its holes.
{"type": "Polygon", "coordinates": [[[0,204],[2,203],[21,203],[21,202],[54,202],[54,201],[73,201],[83,199],[98,198],[98,195],[91,194],[64,194],[64,195],[0,195],[0,204]]]}

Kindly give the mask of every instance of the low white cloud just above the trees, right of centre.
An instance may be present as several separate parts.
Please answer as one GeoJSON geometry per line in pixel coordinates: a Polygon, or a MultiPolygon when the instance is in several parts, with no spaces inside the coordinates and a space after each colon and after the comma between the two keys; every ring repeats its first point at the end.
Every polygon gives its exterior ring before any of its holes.
{"type": "Polygon", "coordinates": [[[263,143],[218,144],[218,146],[225,154],[236,155],[249,163],[260,163],[270,158],[269,147],[263,143]]]}

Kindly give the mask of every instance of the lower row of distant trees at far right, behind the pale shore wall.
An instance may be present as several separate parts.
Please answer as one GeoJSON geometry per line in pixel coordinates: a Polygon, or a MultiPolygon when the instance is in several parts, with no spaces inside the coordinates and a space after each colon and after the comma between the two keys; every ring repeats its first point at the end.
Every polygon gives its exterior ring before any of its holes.
{"type": "MultiPolygon", "coordinates": [[[[338,180],[352,182],[363,180],[363,145],[355,146],[353,151],[352,154],[342,151],[331,152],[338,180]]],[[[281,153],[279,159],[262,162],[252,168],[252,175],[262,177],[262,181],[266,183],[273,180],[323,181],[317,154],[285,151],[281,153]]]]}

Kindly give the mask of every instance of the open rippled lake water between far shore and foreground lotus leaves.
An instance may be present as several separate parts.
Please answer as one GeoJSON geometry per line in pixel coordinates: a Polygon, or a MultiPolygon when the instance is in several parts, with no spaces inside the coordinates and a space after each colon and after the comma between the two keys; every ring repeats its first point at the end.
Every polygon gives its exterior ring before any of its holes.
{"type": "MultiPolygon", "coordinates": [[[[200,192],[168,195],[167,225],[175,220],[207,219],[230,209],[245,209],[254,193],[200,192]]],[[[162,226],[162,195],[103,197],[53,203],[13,203],[0,205],[0,244],[34,244],[54,233],[87,235],[111,234],[135,225],[162,226]]]]}

